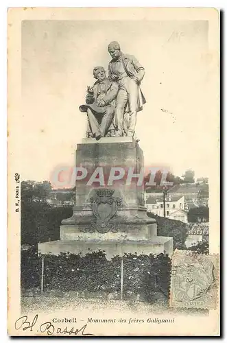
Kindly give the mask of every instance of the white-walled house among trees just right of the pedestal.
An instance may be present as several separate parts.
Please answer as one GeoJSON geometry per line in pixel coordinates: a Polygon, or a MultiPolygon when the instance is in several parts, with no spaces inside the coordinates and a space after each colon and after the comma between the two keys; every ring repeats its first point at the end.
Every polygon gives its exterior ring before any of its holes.
{"type": "MultiPolygon", "coordinates": [[[[148,212],[164,217],[163,196],[147,198],[145,205],[148,212]]],[[[181,220],[187,223],[187,212],[184,211],[184,196],[171,196],[168,194],[165,202],[165,215],[169,219],[181,220]]]]}

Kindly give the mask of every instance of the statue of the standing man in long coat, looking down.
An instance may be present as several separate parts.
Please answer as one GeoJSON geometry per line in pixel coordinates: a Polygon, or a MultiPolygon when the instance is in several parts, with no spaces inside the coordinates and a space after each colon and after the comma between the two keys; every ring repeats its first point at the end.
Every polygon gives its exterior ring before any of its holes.
{"type": "Polygon", "coordinates": [[[108,45],[108,52],[112,57],[108,78],[110,81],[117,82],[119,86],[115,109],[116,136],[123,136],[124,113],[128,112],[127,135],[133,137],[136,114],[143,109],[143,104],[146,102],[140,88],[145,70],[134,56],[123,54],[117,42],[111,42],[108,45]]]}

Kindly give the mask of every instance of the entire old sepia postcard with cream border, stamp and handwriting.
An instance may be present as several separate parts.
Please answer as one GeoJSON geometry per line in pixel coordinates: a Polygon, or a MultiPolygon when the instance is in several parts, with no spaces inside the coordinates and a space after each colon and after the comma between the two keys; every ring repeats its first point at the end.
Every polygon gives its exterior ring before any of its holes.
{"type": "Polygon", "coordinates": [[[218,336],[219,10],[8,10],[8,334],[218,336]]]}

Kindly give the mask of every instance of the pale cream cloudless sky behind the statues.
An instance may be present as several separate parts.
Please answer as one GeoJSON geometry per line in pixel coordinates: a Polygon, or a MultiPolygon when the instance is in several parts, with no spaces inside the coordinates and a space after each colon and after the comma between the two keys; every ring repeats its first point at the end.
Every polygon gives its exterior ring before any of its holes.
{"type": "Polygon", "coordinates": [[[112,40],[145,68],[147,103],[136,124],[145,165],[167,166],[176,176],[187,169],[196,178],[209,176],[218,109],[208,21],[51,20],[21,26],[23,179],[49,180],[56,167],[75,164],[86,131],[78,107],[95,82],[93,67],[108,69],[112,40]]]}

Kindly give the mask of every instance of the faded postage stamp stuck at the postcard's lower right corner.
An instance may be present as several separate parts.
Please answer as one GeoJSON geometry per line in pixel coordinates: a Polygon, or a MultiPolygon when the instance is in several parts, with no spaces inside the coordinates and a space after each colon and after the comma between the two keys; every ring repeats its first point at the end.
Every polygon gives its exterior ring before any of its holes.
{"type": "Polygon", "coordinates": [[[170,306],[215,309],[219,258],[176,250],[172,257],[170,306]]]}

